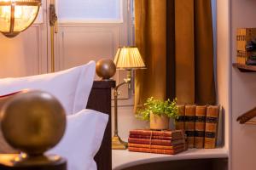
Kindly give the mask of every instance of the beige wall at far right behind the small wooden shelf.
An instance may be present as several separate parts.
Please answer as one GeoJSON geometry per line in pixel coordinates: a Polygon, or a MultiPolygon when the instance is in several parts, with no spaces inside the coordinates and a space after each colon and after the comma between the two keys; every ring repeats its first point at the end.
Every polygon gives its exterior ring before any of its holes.
{"type": "MultiPolygon", "coordinates": [[[[236,62],[236,29],[256,27],[256,1],[231,1],[231,61],[236,62]]],[[[256,105],[256,74],[232,68],[232,170],[256,167],[256,126],[240,125],[237,116],[256,105]]]]}

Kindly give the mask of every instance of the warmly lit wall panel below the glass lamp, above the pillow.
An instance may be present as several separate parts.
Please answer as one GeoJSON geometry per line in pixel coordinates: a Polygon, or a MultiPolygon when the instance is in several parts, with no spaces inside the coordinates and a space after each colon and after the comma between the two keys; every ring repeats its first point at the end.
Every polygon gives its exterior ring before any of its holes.
{"type": "Polygon", "coordinates": [[[35,25],[14,38],[0,35],[0,77],[25,77],[46,71],[42,34],[41,26],[35,25]]]}

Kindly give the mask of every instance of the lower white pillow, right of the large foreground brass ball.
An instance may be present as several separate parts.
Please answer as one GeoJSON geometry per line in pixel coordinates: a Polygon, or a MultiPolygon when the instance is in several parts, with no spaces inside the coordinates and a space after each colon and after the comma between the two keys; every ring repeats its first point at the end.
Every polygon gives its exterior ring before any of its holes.
{"type": "Polygon", "coordinates": [[[102,144],[107,123],[108,115],[92,110],[67,116],[66,133],[48,154],[66,158],[68,170],[96,170],[94,156],[102,144]]]}

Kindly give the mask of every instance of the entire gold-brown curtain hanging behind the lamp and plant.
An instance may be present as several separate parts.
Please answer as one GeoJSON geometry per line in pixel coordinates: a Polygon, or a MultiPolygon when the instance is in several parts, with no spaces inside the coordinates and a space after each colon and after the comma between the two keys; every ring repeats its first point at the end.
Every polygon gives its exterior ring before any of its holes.
{"type": "Polygon", "coordinates": [[[135,20],[147,66],[136,73],[135,109],[151,96],[214,104],[211,0],[135,0],[135,20]]]}

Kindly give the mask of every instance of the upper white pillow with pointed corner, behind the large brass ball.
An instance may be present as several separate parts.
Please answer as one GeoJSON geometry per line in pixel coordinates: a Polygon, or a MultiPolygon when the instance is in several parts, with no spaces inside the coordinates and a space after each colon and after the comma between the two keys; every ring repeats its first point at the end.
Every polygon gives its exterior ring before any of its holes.
{"type": "Polygon", "coordinates": [[[0,95],[25,88],[38,89],[53,94],[64,106],[67,115],[83,110],[90,95],[95,77],[96,63],[81,65],[44,75],[0,79],[0,95]]]}

